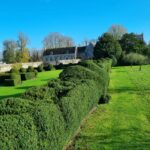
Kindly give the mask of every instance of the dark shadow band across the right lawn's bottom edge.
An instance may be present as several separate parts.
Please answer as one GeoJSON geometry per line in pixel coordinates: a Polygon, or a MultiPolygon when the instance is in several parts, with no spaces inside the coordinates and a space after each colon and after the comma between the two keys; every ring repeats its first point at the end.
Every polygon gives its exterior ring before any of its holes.
{"type": "MultiPolygon", "coordinates": [[[[79,135],[75,141],[80,144],[79,149],[91,150],[92,146],[96,146],[97,150],[104,149],[106,146],[114,150],[119,149],[147,149],[150,147],[150,133],[141,131],[140,129],[118,129],[109,134],[86,136],[79,135]],[[124,138],[122,138],[124,137],[124,138]]],[[[76,142],[75,144],[76,145],[76,142]]]]}

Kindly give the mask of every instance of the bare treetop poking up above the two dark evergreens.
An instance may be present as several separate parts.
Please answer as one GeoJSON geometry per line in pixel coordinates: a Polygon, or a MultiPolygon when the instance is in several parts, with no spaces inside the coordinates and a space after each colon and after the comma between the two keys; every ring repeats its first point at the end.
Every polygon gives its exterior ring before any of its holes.
{"type": "Polygon", "coordinates": [[[108,33],[110,33],[116,40],[120,40],[122,36],[127,33],[127,30],[121,25],[112,25],[108,33]]]}

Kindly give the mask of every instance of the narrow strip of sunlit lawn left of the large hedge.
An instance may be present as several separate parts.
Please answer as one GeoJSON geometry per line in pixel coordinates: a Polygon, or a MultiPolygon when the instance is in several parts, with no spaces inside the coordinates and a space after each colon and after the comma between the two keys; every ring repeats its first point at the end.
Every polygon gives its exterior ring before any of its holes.
{"type": "Polygon", "coordinates": [[[10,96],[19,96],[30,87],[44,85],[50,79],[58,78],[60,72],[61,70],[41,72],[36,79],[24,81],[21,85],[16,87],[0,86],[0,99],[10,96]]]}

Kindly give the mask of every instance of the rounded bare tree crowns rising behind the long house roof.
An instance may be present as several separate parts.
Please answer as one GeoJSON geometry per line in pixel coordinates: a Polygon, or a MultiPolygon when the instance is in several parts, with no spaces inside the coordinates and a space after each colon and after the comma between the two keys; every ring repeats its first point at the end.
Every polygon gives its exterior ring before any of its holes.
{"type": "Polygon", "coordinates": [[[71,37],[64,36],[58,32],[53,32],[44,38],[43,45],[45,49],[71,47],[74,46],[74,41],[71,37]]]}

